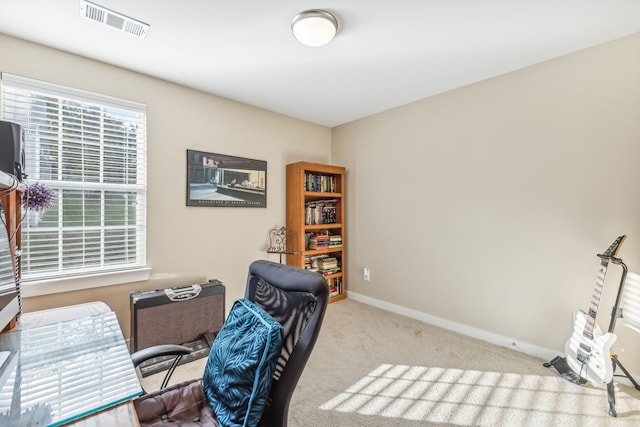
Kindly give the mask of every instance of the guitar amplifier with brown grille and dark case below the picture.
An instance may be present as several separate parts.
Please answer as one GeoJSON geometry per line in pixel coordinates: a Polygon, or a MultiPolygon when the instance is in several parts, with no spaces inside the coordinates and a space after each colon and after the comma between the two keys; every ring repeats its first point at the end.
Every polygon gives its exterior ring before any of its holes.
{"type": "MultiPolygon", "coordinates": [[[[222,282],[131,293],[131,348],[211,341],[224,323],[222,282]]],[[[209,342],[209,345],[211,343],[209,342]]]]}

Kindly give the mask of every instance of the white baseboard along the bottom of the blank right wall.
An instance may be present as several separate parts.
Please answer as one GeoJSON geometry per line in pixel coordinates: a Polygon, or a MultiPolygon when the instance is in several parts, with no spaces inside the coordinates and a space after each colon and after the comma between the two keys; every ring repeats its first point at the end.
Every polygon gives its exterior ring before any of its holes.
{"type": "MultiPolygon", "coordinates": [[[[451,320],[443,319],[441,317],[432,316],[427,313],[423,313],[418,310],[403,307],[397,304],[391,304],[386,301],[371,298],[366,295],[358,294],[355,292],[347,291],[347,297],[361,302],[363,304],[370,305],[382,310],[390,311],[392,313],[400,314],[402,316],[409,317],[411,319],[419,320],[430,325],[438,326],[443,329],[454,331],[462,335],[466,335],[471,338],[476,338],[481,341],[489,342],[499,345],[501,347],[510,348],[512,350],[519,351],[521,353],[528,354],[533,357],[537,357],[542,360],[551,360],[556,356],[564,355],[563,351],[552,350],[550,348],[540,347],[527,342],[518,341],[515,338],[506,337],[504,335],[494,334],[482,329],[474,328],[472,326],[464,325],[462,323],[452,322],[451,320]]],[[[640,378],[636,374],[631,374],[634,378],[640,378]]],[[[633,387],[631,381],[626,377],[616,377],[616,382],[633,387]]]]}

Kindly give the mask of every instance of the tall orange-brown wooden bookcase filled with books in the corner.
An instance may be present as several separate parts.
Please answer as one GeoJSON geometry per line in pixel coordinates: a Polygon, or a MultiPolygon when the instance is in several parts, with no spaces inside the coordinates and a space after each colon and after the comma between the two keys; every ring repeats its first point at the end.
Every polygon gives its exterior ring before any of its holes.
{"type": "Polygon", "coordinates": [[[346,298],[345,168],[319,163],[287,165],[286,262],[318,270],[329,302],[346,298]]]}

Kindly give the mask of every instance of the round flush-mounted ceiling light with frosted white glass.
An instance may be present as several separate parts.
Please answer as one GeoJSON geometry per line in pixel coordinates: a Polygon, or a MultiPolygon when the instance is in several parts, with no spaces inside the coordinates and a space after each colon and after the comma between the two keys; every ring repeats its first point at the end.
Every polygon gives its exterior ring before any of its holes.
{"type": "Polygon", "coordinates": [[[336,36],[338,20],[326,10],[305,10],[293,17],[291,32],[303,45],[324,46],[336,36]]]}

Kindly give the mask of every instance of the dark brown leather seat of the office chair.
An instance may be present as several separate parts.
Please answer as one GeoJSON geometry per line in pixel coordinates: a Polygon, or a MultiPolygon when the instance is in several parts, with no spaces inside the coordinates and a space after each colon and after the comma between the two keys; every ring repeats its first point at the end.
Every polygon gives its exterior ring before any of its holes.
{"type": "Polygon", "coordinates": [[[219,427],[201,379],[185,381],[146,394],[135,399],[133,404],[142,427],[219,427]]]}

